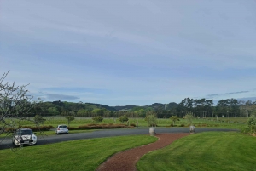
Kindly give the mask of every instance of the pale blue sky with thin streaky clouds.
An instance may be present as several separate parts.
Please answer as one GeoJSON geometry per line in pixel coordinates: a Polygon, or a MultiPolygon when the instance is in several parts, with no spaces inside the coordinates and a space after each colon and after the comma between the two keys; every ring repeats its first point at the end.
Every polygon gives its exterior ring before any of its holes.
{"type": "Polygon", "coordinates": [[[43,101],[256,100],[254,0],[1,0],[0,75],[43,101]]]}

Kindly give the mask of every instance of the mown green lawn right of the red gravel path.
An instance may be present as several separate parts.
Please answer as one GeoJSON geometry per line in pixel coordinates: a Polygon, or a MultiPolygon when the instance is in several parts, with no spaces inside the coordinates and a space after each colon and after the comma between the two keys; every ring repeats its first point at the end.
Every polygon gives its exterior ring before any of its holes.
{"type": "Polygon", "coordinates": [[[256,137],[235,132],[191,134],[143,156],[143,170],[255,170],[256,137]]]}

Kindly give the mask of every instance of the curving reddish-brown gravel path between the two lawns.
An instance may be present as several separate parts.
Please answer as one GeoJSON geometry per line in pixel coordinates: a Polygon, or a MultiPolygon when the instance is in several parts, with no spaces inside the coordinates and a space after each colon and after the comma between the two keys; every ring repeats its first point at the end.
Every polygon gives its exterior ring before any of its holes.
{"type": "Polygon", "coordinates": [[[174,140],[186,135],[189,135],[189,133],[155,134],[155,136],[159,138],[156,142],[119,152],[102,163],[96,171],[136,171],[136,162],[144,154],[170,145],[174,140]]]}

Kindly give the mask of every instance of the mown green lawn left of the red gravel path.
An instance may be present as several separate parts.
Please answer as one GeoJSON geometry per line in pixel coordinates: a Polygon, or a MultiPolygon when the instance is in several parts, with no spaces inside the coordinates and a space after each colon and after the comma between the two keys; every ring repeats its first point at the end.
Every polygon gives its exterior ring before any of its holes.
{"type": "Polygon", "coordinates": [[[0,151],[0,170],[95,170],[114,153],[154,142],[148,135],[72,140],[0,151]]]}

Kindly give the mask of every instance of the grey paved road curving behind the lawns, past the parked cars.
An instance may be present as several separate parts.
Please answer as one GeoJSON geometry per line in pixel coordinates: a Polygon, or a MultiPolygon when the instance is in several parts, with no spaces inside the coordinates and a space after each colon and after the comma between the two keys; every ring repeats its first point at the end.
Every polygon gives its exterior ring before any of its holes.
{"type": "MultiPolygon", "coordinates": [[[[224,128],[195,128],[196,133],[208,132],[208,131],[237,131],[236,129],[224,129],[224,128]]],[[[155,128],[156,134],[161,133],[189,133],[189,128],[155,128]]],[[[112,136],[133,135],[133,134],[149,134],[148,128],[129,128],[129,129],[104,129],[96,130],[89,133],[78,134],[59,134],[53,136],[38,135],[38,145],[45,145],[51,143],[57,143],[67,140],[81,140],[81,139],[95,139],[112,136]]],[[[10,148],[10,139],[0,139],[0,150],[10,148]]]]}

